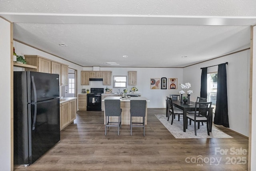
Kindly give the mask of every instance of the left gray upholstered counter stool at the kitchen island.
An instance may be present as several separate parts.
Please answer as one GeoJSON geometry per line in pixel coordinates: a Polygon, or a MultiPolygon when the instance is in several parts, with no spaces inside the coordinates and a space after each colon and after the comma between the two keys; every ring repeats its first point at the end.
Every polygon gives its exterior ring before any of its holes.
{"type": "Polygon", "coordinates": [[[119,135],[119,128],[122,127],[122,109],[119,99],[112,99],[112,100],[104,100],[105,103],[105,116],[106,116],[106,126],[105,126],[105,135],[107,135],[107,127],[118,127],[118,133],[119,135]],[[109,117],[116,116],[118,117],[118,122],[110,122],[109,117]]]}

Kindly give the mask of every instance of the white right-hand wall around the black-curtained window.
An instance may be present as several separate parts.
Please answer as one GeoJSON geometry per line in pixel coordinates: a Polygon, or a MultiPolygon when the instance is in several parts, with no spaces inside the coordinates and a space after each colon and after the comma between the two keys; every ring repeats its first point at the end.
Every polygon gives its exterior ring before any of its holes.
{"type": "MultiPolygon", "coordinates": [[[[228,94],[228,120],[230,129],[249,136],[249,82],[250,82],[250,50],[232,54],[216,60],[203,62],[183,70],[184,82],[191,83],[194,91],[192,101],[200,96],[200,68],[228,62],[227,94],[228,94]]],[[[208,68],[208,73],[218,72],[218,66],[208,68]]]]}

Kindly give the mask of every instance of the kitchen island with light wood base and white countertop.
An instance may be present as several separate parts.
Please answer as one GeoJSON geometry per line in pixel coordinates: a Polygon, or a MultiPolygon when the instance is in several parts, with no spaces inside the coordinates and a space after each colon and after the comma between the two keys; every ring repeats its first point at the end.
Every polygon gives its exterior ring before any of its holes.
{"type": "MultiPolygon", "coordinates": [[[[106,97],[102,99],[102,103],[106,99],[120,99],[121,109],[122,109],[122,125],[130,125],[130,100],[146,100],[150,101],[146,97],[131,97],[131,98],[121,98],[121,97],[106,97]]],[[[146,116],[145,116],[145,125],[147,125],[147,103],[146,103],[146,116]]],[[[111,122],[118,121],[118,117],[110,117],[111,122]]],[[[133,117],[132,122],[142,122],[142,117],[133,117]]],[[[104,110],[104,124],[106,124],[105,110],[104,110]]]]}

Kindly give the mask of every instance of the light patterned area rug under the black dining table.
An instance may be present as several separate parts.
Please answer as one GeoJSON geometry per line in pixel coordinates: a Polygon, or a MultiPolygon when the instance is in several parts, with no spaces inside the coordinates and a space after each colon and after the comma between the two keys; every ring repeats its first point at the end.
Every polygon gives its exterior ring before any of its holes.
{"type": "Polygon", "coordinates": [[[180,121],[178,121],[178,116],[173,120],[171,125],[172,118],[170,117],[169,121],[167,121],[166,115],[156,114],[157,119],[172,133],[175,138],[233,138],[230,135],[212,127],[212,132],[210,132],[210,136],[207,134],[206,123],[202,125],[200,124],[200,129],[197,128],[196,125],[196,134],[194,131],[194,123],[192,121],[191,125],[188,124],[188,129],[186,132],[183,132],[183,117],[180,116],[180,121]]]}

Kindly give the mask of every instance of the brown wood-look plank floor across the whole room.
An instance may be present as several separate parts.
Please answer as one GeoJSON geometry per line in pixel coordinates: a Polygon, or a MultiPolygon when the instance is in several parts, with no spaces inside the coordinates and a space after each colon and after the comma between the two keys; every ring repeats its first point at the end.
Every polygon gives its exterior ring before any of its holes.
{"type": "Polygon", "coordinates": [[[105,136],[102,111],[78,111],[74,123],[61,131],[59,143],[32,165],[14,165],[14,170],[248,170],[246,137],[218,127],[234,138],[175,139],[154,115],[161,113],[165,109],[148,109],[143,137],[142,127],[134,127],[130,136],[129,125],[122,125],[119,136],[117,127],[110,127],[105,136]],[[215,148],[228,151],[220,154],[215,148]],[[238,154],[241,148],[244,154],[238,154]]]}

